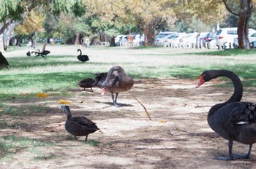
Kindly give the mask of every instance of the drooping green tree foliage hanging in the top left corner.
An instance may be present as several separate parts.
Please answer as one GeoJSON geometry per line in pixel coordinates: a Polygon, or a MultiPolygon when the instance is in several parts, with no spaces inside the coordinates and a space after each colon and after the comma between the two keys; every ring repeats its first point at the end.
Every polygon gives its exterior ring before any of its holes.
{"type": "MultiPolygon", "coordinates": [[[[82,0],[1,0],[0,1],[0,37],[4,31],[12,31],[17,23],[23,21],[31,9],[42,7],[48,12],[60,14],[61,12],[72,12],[81,15],[83,12],[82,0]]],[[[1,58],[4,57],[0,55],[1,58]]]]}

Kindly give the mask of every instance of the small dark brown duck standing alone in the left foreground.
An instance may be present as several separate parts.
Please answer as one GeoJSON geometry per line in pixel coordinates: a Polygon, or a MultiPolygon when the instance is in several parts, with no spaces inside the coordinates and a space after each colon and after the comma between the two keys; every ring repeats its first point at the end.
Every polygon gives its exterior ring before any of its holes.
{"type": "Polygon", "coordinates": [[[86,135],[86,141],[88,135],[99,130],[97,125],[86,117],[72,117],[69,106],[61,105],[61,109],[64,109],[65,114],[67,115],[67,122],[65,123],[65,129],[68,133],[76,136],[86,135]]]}

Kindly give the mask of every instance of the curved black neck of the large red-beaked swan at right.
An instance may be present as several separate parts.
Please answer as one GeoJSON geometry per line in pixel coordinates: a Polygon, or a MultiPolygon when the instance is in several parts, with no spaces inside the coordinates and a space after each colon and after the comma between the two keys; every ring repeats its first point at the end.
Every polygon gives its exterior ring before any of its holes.
{"type": "Polygon", "coordinates": [[[224,103],[219,103],[211,107],[208,113],[208,117],[211,117],[211,115],[214,114],[215,111],[220,109],[222,106],[227,105],[227,103],[241,101],[241,98],[243,96],[243,85],[239,77],[236,74],[234,74],[232,71],[220,70],[220,71],[209,71],[208,73],[211,75],[208,77],[208,79],[206,79],[206,81],[210,81],[211,79],[215,79],[219,76],[227,76],[227,78],[231,79],[234,84],[234,92],[233,92],[233,95],[230,97],[230,99],[228,99],[224,103]]]}

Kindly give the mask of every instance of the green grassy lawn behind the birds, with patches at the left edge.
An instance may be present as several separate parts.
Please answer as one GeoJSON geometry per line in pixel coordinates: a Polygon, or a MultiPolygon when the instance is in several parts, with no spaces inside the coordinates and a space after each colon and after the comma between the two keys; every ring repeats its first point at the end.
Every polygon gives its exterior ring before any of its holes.
{"type": "MultiPolygon", "coordinates": [[[[241,77],[244,87],[256,87],[255,50],[209,52],[158,47],[91,47],[84,50],[89,53],[89,62],[80,63],[76,59],[76,51],[69,54],[65,52],[67,48],[69,46],[59,46],[59,49],[55,49],[56,54],[51,52],[46,59],[26,57],[26,49],[19,52],[20,49],[15,48],[4,52],[10,67],[0,70],[0,129],[27,125],[18,119],[28,116],[29,112],[39,114],[41,109],[48,109],[37,105],[12,106],[12,102],[33,100],[37,93],[47,93],[57,98],[70,95],[69,91],[78,88],[78,81],[93,77],[97,72],[108,71],[114,65],[122,66],[134,79],[197,79],[206,69],[227,69],[241,77]],[[60,54],[62,50],[63,54],[60,54]],[[4,116],[17,120],[9,124],[4,116]]],[[[222,87],[231,87],[231,83],[222,84],[222,87]]],[[[3,135],[0,139],[0,158],[22,149],[53,146],[51,142],[13,135],[3,135]]]]}

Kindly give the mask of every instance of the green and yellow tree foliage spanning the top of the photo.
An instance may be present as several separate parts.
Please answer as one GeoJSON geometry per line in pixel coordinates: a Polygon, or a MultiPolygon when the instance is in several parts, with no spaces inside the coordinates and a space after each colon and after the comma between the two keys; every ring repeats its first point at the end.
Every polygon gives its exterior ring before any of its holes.
{"type": "Polygon", "coordinates": [[[14,22],[22,23],[23,27],[16,28],[20,33],[42,31],[44,20],[48,34],[70,37],[104,32],[114,36],[143,31],[152,44],[159,31],[173,30],[177,26],[187,32],[209,30],[222,23],[230,12],[239,18],[238,30],[242,31],[238,36],[246,39],[243,30],[247,30],[248,23],[243,22],[251,17],[254,3],[255,0],[2,0],[0,34],[14,22]],[[244,19],[242,9],[249,12],[244,19]],[[44,17],[38,12],[43,12],[44,17]],[[34,19],[29,17],[31,15],[34,19]],[[29,20],[34,25],[29,25],[29,20]]]}

